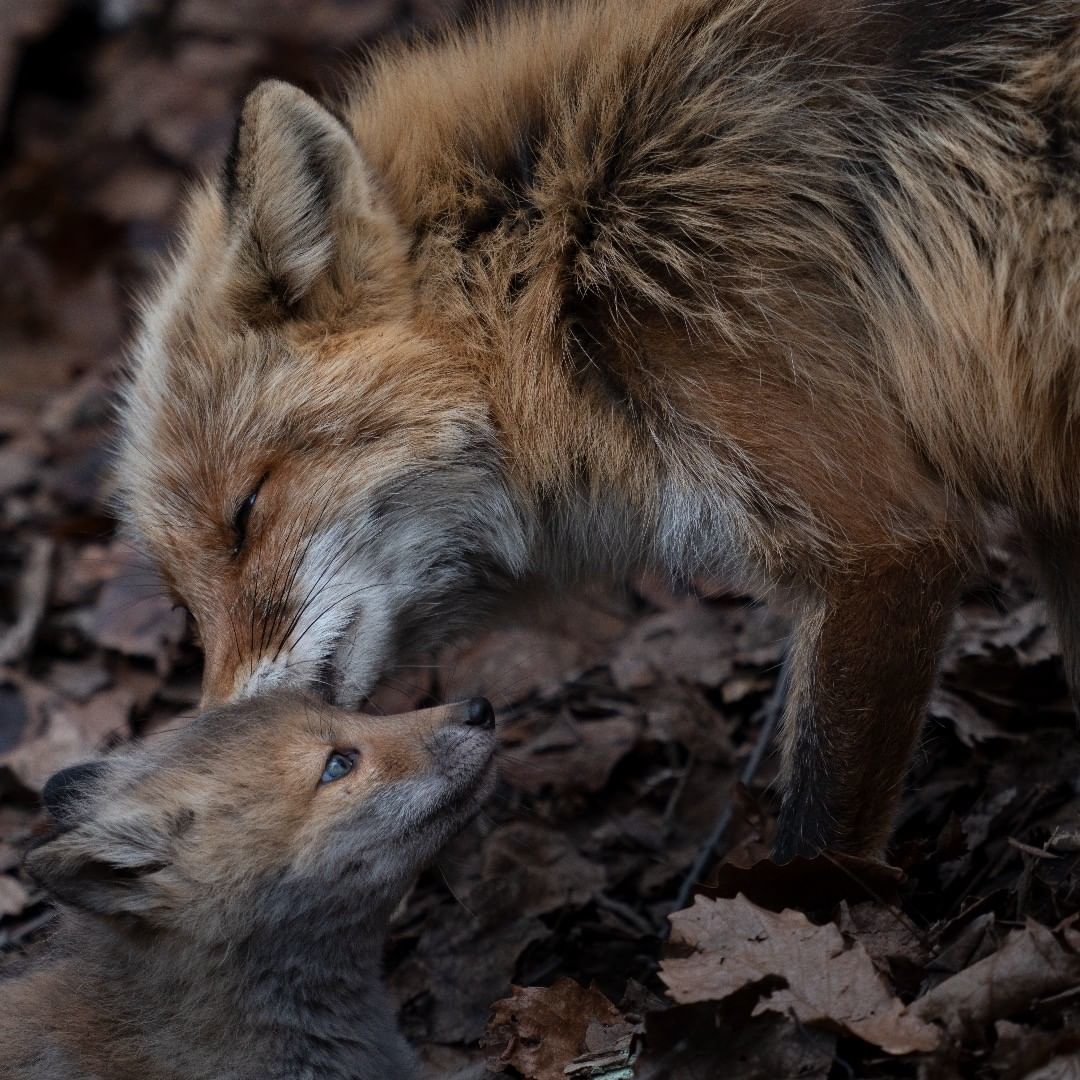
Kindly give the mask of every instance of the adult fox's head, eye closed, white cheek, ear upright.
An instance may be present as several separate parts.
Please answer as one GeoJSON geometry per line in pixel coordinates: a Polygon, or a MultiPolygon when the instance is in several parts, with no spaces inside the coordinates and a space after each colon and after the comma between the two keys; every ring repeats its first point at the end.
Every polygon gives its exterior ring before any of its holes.
{"type": "Polygon", "coordinates": [[[204,704],[289,685],[354,706],[403,640],[521,572],[483,379],[419,312],[409,245],[341,121],[252,93],[121,408],[118,486],[194,616],[204,704]]]}

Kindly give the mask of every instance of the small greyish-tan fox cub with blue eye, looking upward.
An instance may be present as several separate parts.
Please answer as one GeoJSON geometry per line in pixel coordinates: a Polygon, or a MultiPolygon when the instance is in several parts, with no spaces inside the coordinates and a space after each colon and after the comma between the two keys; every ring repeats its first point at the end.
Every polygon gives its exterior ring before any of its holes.
{"type": "Polygon", "coordinates": [[[476,699],[386,719],[298,696],[57,773],[27,867],[63,905],[0,983],[9,1080],[407,1080],[379,971],[417,869],[491,783],[476,699]]]}

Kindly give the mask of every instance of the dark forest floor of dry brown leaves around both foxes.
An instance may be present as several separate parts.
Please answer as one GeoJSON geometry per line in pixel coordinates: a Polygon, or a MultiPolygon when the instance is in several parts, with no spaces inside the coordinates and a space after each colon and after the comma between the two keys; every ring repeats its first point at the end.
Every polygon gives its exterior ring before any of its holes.
{"type": "MultiPolygon", "coordinates": [[[[259,79],[333,94],[379,39],[470,6],[0,5],[4,968],[33,956],[52,918],[18,865],[44,779],[152,738],[198,700],[184,616],[106,501],[131,298],[185,184],[219,166],[259,79]]],[[[569,597],[449,650],[437,673],[399,673],[373,710],[485,693],[502,721],[499,793],[392,933],[390,982],[431,1076],[618,1080],[635,1057],[639,1075],[675,1080],[1080,1076],[1080,750],[1031,596],[1004,537],[946,651],[896,872],[757,862],[771,758],[735,780],[785,626],[716,583],[569,597]],[[711,862],[662,978],[666,915],[727,807],[727,862],[711,862]],[[805,915],[770,914],[785,907],[805,915]],[[511,997],[512,984],[530,989],[511,997]],[[934,1025],[930,1054],[916,1014],[934,1025]]]]}

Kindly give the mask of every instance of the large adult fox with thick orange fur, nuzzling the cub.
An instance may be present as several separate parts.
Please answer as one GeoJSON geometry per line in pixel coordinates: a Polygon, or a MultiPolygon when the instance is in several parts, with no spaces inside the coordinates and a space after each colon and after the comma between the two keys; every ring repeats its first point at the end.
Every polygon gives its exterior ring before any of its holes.
{"type": "Polygon", "coordinates": [[[351,703],[518,585],[795,618],[778,853],[888,837],[985,510],[1080,675],[1072,0],[567,2],[244,106],[147,307],[130,516],[208,701],[351,703]]]}

